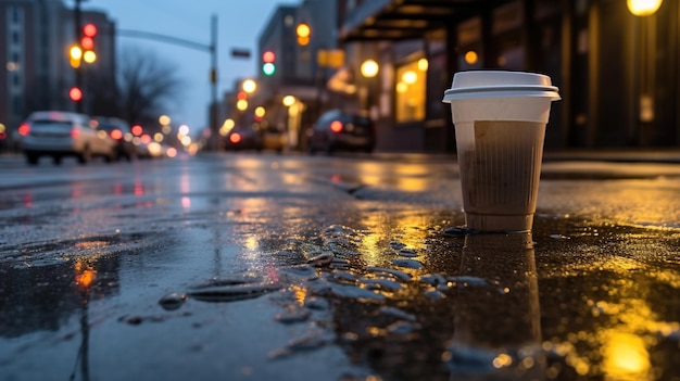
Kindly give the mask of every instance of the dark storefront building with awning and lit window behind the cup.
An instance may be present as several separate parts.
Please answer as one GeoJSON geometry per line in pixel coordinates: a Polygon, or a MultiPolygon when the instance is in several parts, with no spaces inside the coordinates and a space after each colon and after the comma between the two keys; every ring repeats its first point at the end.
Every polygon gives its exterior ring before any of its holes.
{"type": "Polygon", "coordinates": [[[561,88],[547,149],[680,144],[680,4],[620,0],[352,1],[344,46],[380,62],[378,149],[455,150],[441,98],[453,74],[547,74],[561,88]],[[415,73],[415,74],[414,74],[415,73]]]}

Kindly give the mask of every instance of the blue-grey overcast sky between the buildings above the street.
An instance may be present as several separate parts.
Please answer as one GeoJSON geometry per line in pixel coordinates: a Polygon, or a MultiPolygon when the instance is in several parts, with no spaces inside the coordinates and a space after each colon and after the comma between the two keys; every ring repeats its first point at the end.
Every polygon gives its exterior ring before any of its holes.
{"type": "MultiPolygon", "coordinates": [[[[73,7],[73,0],[65,1],[73,7]]],[[[142,30],[181,38],[203,45],[211,42],[211,17],[217,15],[218,99],[234,87],[237,78],[257,75],[257,39],[279,4],[300,0],[84,0],[83,8],[104,11],[121,29],[142,30]],[[251,50],[250,59],[231,58],[232,48],[251,50]]],[[[175,63],[184,81],[179,104],[171,111],[173,124],[187,124],[198,130],[209,124],[211,100],[207,51],[165,42],[118,37],[118,49],[151,50],[159,59],[175,63]]]]}

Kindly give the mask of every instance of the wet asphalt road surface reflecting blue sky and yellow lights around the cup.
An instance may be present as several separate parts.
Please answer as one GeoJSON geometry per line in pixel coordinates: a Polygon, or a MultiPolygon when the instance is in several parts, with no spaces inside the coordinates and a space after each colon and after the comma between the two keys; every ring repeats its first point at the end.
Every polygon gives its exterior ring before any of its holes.
{"type": "Polygon", "coordinates": [[[679,164],[463,224],[451,156],[0,156],[0,380],[680,380],[679,164]]]}

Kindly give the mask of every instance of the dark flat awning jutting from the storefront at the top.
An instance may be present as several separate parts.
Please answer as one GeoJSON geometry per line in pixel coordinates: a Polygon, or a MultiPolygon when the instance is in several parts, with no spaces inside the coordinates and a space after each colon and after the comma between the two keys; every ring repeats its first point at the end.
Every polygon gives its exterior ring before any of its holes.
{"type": "Polygon", "coordinates": [[[503,0],[369,0],[348,14],[342,41],[405,40],[423,38],[495,7],[503,0]]]}

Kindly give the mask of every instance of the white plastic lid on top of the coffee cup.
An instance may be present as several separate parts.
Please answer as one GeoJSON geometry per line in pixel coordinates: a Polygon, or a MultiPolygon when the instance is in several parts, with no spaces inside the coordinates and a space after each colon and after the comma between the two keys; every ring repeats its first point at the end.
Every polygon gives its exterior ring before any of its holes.
{"type": "Polygon", "coordinates": [[[558,89],[549,76],[536,73],[507,71],[458,72],[451,89],[444,91],[445,103],[471,98],[546,97],[559,100],[558,89]]]}

